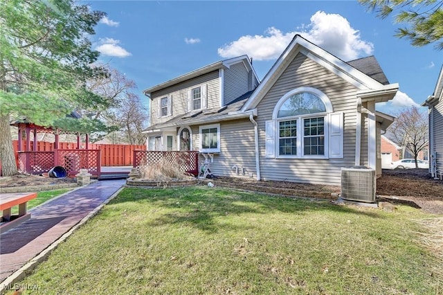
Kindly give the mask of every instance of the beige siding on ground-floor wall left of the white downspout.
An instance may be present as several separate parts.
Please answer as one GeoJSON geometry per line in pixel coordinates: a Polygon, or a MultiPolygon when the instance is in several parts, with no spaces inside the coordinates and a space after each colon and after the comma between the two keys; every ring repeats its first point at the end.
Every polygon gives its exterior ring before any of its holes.
{"type": "MultiPolygon", "coordinates": [[[[193,150],[199,150],[199,127],[192,126],[193,150]]],[[[204,157],[199,155],[199,166],[204,157]]],[[[250,120],[233,120],[220,123],[220,153],[214,155],[214,162],[210,163],[210,170],[216,176],[227,177],[257,177],[255,170],[254,127],[250,120]],[[235,174],[233,166],[239,168],[239,175],[235,174]],[[245,175],[242,175],[242,167],[245,175]]]]}

